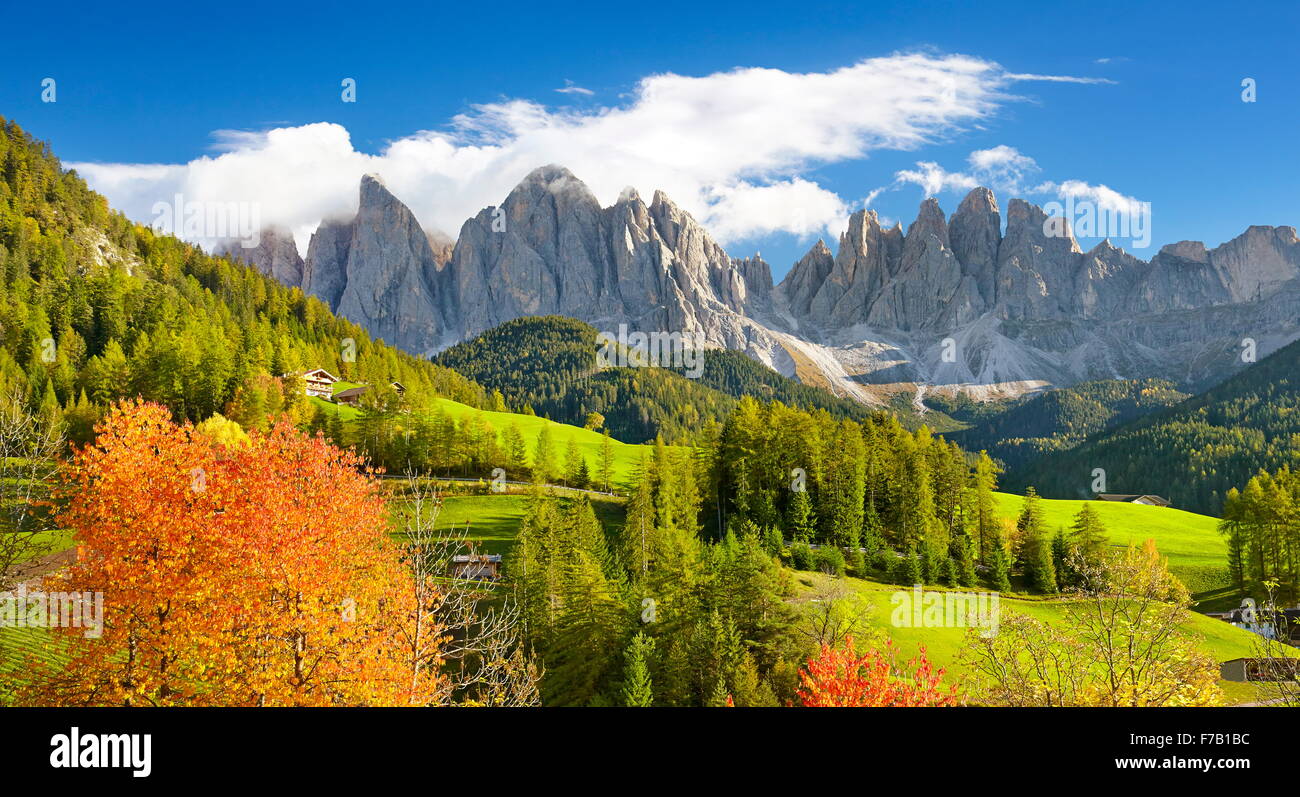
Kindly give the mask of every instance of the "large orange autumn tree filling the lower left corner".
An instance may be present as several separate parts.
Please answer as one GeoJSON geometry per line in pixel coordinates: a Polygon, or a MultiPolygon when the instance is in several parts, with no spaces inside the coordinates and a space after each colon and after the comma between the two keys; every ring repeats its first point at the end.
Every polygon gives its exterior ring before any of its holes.
{"type": "Polygon", "coordinates": [[[403,645],[424,607],[360,467],[287,423],[226,447],[164,407],[114,407],[65,476],[78,558],[46,585],[101,592],[103,637],[66,629],[72,659],[22,701],[433,702],[443,684],[412,677],[403,645]]]}

